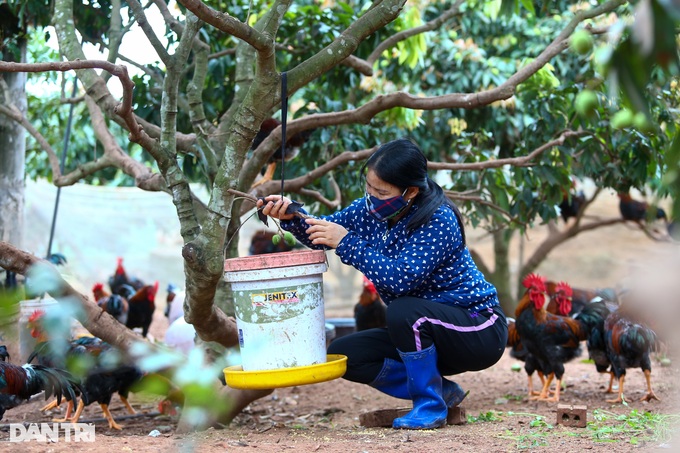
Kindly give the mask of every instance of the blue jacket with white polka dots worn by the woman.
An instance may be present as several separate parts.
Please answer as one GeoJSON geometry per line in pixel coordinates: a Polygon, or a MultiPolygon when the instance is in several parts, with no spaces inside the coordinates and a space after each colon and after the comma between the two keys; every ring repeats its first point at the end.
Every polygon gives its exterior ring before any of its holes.
{"type": "MultiPolygon", "coordinates": [[[[319,218],[347,229],[336,255],[366,275],[386,304],[413,296],[460,305],[473,313],[498,305],[496,288],[486,281],[463,244],[453,210],[442,205],[427,223],[407,232],[408,220],[417,208],[412,207],[392,227],[371,217],[363,198],[319,218]]],[[[281,227],[310,248],[325,248],[311,243],[305,233],[308,225],[299,217],[281,221],[281,227]]]]}

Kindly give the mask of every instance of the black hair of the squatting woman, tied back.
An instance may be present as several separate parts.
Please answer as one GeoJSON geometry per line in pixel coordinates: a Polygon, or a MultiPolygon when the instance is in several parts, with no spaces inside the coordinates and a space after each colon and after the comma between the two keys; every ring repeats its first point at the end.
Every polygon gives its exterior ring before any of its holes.
{"type": "Polygon", "coordinates": [[[439,184],[427,174],[427,158],[418,145],[407,138],[399,138],[381,145],[361,167],[365,175],[370,169],[383,181],[399,187],[401,191],[409,187],[420,189],[413,203],[418,210],[406,225],[407,230],[424,225],[432,214],[445,204],[456,214],[460,231],[465,243],[465,227],[458,207],[444,194],[439,184]]]}

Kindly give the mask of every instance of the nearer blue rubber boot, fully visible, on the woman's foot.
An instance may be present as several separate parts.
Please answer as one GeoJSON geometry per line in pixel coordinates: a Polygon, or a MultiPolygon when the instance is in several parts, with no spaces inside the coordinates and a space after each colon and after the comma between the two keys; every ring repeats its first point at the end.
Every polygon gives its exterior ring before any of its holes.
{"type": "Polygon", "coordinates": [[[407,383],[413,409],[395,418],[393,428],[431,429],[446,424],[448,408],[442,397],[442,376],[437,369],[437,350],[434,345],[422,351],[401,352],[406,367],[407,383]]]}

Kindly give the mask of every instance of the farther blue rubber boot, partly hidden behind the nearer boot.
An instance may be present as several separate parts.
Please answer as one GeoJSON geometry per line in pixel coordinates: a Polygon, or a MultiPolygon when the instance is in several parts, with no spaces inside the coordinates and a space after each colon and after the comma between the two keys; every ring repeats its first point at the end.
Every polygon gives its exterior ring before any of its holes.
{"type": "MultiPolygon", "coordinates": [[[[406,366],[398,360],[385,359],[382,370],[368,385],[395,398],[411,399],[406,388],[406,366]]],[[[442,398],[446,402],[446,407],[452,409],[458,406],[466,396],[467,393],[460,385],[442,378],[442,398]]]]}

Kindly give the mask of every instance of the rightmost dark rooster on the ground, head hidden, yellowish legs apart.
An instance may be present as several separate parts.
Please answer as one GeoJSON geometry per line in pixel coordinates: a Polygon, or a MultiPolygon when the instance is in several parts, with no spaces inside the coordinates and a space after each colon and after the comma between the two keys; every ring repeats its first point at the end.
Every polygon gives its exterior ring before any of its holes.
{"type": "Polygon", "coordinates": [[[612,312],[604,321],[607,357],[612,372],[619,383],[619,393],[608,403],[623,402],[623,383],[626,369],[640,367],[647,381],[647,394],[640,401],[659,400],[652,390],[652,363],[650,354],[658,347],[656,333],[647,325],[638,323],[625,306],[612,312]]]}

